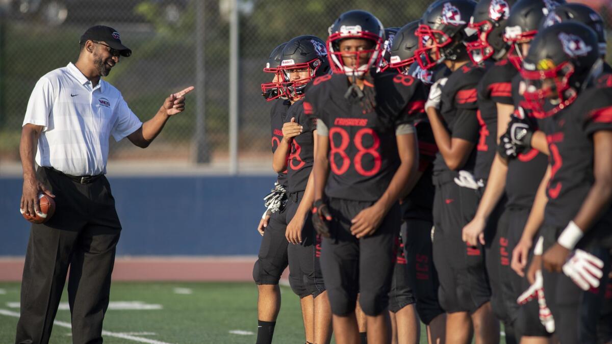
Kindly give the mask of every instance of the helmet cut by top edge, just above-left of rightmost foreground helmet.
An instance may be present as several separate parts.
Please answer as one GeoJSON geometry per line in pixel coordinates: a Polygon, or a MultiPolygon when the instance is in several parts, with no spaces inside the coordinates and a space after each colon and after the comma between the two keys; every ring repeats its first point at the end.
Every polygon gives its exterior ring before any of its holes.
{"type": "Polygon", "coordinates": [[[519,0],[512,6],[506,22],[504,40],[512,45],[508,59],[517,69],[521,69],[523,61],[520,44],[531,42],[540,23],[561,4],[565,4],[565,0],[519,0]]]}

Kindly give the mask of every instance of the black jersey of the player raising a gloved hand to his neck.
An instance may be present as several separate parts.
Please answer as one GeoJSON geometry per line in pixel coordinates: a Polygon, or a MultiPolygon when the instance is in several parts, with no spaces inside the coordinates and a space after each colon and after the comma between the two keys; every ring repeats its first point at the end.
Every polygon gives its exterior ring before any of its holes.
{"type": "MultiPolygon", "coordinates": [[[[478,142],[480,125],[476,116],[478,110],[477,86],[487,69],[472,62],[463,65],[450,73],[446,85],[442,88],[440,114],[446,129],[453,138],[474,143],[478,142]]],[[[474,171],[476,147],[461,170],[474,171]]],[[[436,155],[433,166],[434,174],[450,171],[441,153],[436,155]]]]}

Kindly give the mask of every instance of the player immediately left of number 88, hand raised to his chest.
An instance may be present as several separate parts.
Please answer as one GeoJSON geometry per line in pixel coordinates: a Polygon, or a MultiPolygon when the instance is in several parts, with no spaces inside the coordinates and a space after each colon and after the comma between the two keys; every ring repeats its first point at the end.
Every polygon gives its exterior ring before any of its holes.
{"type": "Polygon", "coordinates": [[[286,204],[286,240],[289,242],[289,285],[300,297],[307,343],[329,343],[331,311],[312,226],[312,165],[315,154],[315,121],[307,118],[302,104],[305,88],[315,77],[328,75],[323,40],[304,35],[289,40],[278,66],[278,80],[291,102],[283,124],[283,140],[274,152],[274,170],[287,170],[289,201],[286,204]]]}

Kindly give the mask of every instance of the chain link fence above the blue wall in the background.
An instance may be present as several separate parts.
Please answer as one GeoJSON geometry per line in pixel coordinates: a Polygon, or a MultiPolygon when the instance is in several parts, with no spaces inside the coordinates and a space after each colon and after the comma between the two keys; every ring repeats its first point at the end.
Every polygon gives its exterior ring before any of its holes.
{"type": "MultiPolygon", "coordinates": [[[[36,81],[75,62],[85,29],[106,24],[121,32],[133,50],[106,81],[143,121],[170,92],[196,86],[187,110],[166,124],[149,149],[111,140],[111,162],[204,163],[228,166],[231,172],[269,169],[271,103],[261,97],[259,84],[269,81],[262,69],[272,48],[300,34],[325,40],[329,25],[346,10],[368,10],[384,26],[402,26],[419,18],[430,2],[0,0],[0,163],[19,161],[21,122],[36,81]]],[[[609,19],[610,0],[588,4],[609,19]]]]}

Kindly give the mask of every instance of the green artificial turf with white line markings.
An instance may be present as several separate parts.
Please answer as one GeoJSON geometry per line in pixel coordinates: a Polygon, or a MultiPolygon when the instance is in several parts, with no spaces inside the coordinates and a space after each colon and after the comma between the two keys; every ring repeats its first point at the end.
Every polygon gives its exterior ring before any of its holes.
{"type": "MultiPolygon", "coordinates": [[[[1,313],[19,312],[18,308],[9,307],[9,302],[19,302],[19,287],[19,283],[0,283],[0,343],[15,340],[17,318],[1,313]]],[[[281,293],[282,307],[274,343],[304,343],[299,300],[288,287],[282,286],[281,293]]],[[[108,310],[104,330],[163,343],[252,344],[257,331],[256,300],[257,289],[253,283],[114,282],[111,302],[141,301],[151,307],[161,305],[162,309],[108,310]],[[191,294],[177,294],[176,288],[188,288],[191,294]],[[236,330],[253,334],[230,333],[236,330]]],[[[62,296],[62,302],[65,301],[66,293],[62,296]]],[[[56,320],[70,323],[70,312],[59,310],[56,320]]],[[[422,334],[420,342],[427,343],[422,334]]],[[[103,337],[108,344],[139,343],[111,335],[103,337]]],[[[70,329],[56,324],[50,343],[72,343],[70,329]]]]}

